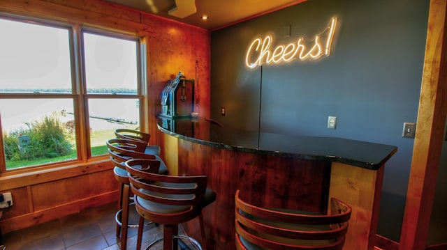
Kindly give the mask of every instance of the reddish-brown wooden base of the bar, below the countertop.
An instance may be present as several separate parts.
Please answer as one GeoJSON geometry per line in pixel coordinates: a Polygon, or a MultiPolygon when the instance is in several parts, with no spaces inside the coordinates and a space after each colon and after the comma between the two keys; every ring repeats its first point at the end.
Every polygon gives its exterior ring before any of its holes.
{"type": "MultiPolygon", "coordinates": [[[[171,173],[207,175],[217,201],[203,210],[207,247],[234,249],[234,196],[267,207],[327,212],[335,196],[353,208],[344,249],[374,249],[383,166],[378,170],[338,162],[277,157],[215,148],[165,134],[162,152],[171,173]],[[177,157],[173,154],[177,153],[177,157]]],[[[163,157],[163,155],[162,155],[163,157]]],[[[201,239],[198,221],[185,231],[201,239]]]]}

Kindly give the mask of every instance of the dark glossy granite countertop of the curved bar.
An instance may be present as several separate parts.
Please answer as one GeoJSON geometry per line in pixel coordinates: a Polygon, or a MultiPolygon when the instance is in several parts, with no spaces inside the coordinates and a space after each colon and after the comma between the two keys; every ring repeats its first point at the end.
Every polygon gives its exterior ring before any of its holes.
{"type": "Polygon", "coordinates": [[[233,130],[204,118],[171,119],[161,117],[158,127],[161,132],[179,139],[215,148],[342,162],[372,170],[379,169],[397,152],[395,146],[337,137],[296,136],[233,130]]]}

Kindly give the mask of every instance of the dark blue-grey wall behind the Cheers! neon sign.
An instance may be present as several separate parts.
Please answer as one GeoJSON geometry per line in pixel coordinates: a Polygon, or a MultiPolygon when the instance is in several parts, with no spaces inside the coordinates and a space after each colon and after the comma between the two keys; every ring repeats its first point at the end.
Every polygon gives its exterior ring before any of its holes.
{"type": "MultiPolygon", "coordinates": [[[[386,164],[379,235],[399,241],[416,123],[430,1],[309,0],[212,32],[211,113],[240,130],[336,136],[397,146],[386,164]],[[249,43],[312,40],[339,19],[330,56],[244,66],[249,43]],[[290,25],[290,37],[284,27],[290,25]],[[226,115],[221,116],[221,107],[226,115]],[[327,128],[337,116],[337,129],[327,128]]],[[[247,6],[249,8],[249,6],[247,6]]]]}

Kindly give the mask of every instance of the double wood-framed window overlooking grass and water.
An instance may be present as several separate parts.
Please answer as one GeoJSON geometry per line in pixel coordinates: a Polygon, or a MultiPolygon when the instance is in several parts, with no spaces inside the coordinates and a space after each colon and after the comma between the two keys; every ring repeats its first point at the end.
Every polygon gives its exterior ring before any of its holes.
{"type": "Polygon", "coordinates": [[[11,17],[0,32],[1,170],[85,161],[139,129],[138,38],[11,17]]]}

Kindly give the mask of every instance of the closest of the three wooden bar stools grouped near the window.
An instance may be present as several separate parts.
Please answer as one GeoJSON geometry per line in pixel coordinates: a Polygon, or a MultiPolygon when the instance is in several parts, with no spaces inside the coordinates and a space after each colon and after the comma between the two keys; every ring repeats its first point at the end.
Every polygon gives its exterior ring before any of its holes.
{"type": "MultiPolygon", "coordinates": [[[[184,237],[198,249],[196,240],[178,235],[178,225],[199,217],[203,249],[206,249],[202,209],[216,200],[216,193],[207,189],[207,177],[160,175],[154,160],[131,159],[125,162],[134,194],[135,208],[140,214],[139,225],[145,219],[163,224],[163,239],[149,244],[146,249],[163,240],[163,249],[177,249],[177,238],[184,237]]],[[[137,249],[141,248],[142,227],[138,228],[137,249]]]]}

